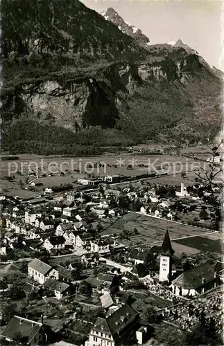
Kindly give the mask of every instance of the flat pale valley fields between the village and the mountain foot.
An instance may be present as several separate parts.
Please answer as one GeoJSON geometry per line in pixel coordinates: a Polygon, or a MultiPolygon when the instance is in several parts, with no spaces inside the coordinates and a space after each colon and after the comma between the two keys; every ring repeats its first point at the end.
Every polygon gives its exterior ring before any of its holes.
{"type": "MultiPolygon", "coordinates": [[[[160,145],[158,145],[160,148],[160,145]]],[[[150,146],[140,145],[137,149],[150,149],[150,146]]],[[[185,149],[184,154],[195,153],[200,158],[207,158],[209,152],[207,147],[196,147],[185,149]]],[[[119,174],[121,176],[136,177],[147,172],[162,173],[166,172],[166,176],[150,178],[150,183],[164,183],[169,185],[180,185],[184,182],[185,185],[193,185],[195,183],[198,165],[192,159],[184,156],[167,155],[141,155],[136,152],[121,152],[116,155],[105,154],[98,157],[52,157],[38,155],[19,155],[19,160],[16,161],[1,161],[0,162],[0,184],[1,190],[7,194],[18,195],[19,197],[32,197],[42,193],[43,188],[60,185],[64,183],[76,184],[78,178],[87,176],[88,173],[95,176],[104,176],[106,174],[119,174]],[[93,167],[95,163],[104,163],[105,167],[93,167]],[[115,167],[114,167],[114,166],[115,167]],[[132,165],[133,169],[128,170],[128,165],[132,165]],[[146,167],[139,167],[145,165],[146,167]],[[163,167],[163,168],[161,168],[163,167]],[[39,170],[39,179],[43,185],[35,187],[33,192],[21,188],[21,183],[27,183],[35,176],[28,176],[28,171],[39,170]],[[22,174],[17,172],[21,170],[22,174]],[[74,172],[80,171],[80,173],[74,172]],[[42,174],[52,172],[54,176],[42,177],[42,174]],[[64,176],[60,173],[65,172],[64,176]],[[182,178],[181,173],[187,172],[187,176],[182,178]],[[6,176],[15,176],[15,179],[10,182],[6,180],[6,176]],[[3,179],[4,178],[4,179],[3,179]],[[37,193],[37,194],[35,194],[37,193]]],[[[121,187],[125,187],[127,183],[117,183],[121,187]]]]}

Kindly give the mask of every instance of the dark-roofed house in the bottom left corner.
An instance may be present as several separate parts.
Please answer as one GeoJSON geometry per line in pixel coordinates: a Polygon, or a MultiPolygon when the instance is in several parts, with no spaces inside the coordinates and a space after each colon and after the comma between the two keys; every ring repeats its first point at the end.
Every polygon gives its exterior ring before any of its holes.
{"type": "Polygon", "coordinates": [[[43,322],[35,322],[27,318],[14,316],[1,332],[1,338],[19,345],[47,345],[53,341],[53,331],[43,322]]]}

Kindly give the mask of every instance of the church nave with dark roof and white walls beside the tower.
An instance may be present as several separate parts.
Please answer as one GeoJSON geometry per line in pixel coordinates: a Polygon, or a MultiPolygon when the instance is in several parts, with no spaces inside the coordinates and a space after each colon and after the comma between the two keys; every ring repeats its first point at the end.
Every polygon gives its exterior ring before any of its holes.
{"type": "Polygon", "coordinates": [[[176,295],[198,295],[205,293],[221,284],[220,277],[214,264],[201,264],[184,271],[171,283],[171,289],[176,295]]]}

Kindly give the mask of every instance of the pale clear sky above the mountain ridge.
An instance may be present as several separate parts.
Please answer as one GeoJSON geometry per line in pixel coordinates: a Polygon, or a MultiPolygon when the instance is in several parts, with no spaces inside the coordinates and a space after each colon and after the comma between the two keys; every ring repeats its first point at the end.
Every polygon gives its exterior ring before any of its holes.
{"type": "Polygon", "coordinates": [[[224,51],[222,0],[81,1],[97,12],[114,8],[124,20],[141,29],[151,44],[182,39],[210,65],[224,71],[221,59],[222,50],[224,51]]]}

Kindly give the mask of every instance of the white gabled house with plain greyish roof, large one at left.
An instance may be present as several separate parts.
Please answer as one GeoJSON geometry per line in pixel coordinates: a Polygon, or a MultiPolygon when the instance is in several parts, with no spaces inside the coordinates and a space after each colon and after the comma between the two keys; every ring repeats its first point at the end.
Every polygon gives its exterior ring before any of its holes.
{"type": "Polygon", "coordinates": [[[28,264],[28,277],[31,277],[40,284],[44,284],[49,277],[55,277],[55,279],[58,279],[58,271],[56,271],[52,266],[49,266],[49,264],[35,258],[28,264]]]}

